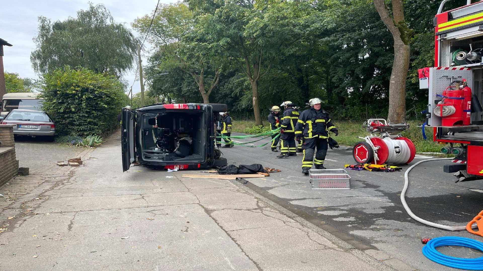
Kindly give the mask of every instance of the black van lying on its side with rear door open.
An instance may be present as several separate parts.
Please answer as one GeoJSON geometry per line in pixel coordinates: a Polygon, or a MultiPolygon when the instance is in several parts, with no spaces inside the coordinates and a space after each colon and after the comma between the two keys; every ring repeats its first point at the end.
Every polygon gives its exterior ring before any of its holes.
{"type": "Polygon", "coordinates": [[[206,169],[227,164],[215,148],[218,112],[225,104],[157,104],[122,111],[123,171],[132,163],[154,169],[206,169]]]}

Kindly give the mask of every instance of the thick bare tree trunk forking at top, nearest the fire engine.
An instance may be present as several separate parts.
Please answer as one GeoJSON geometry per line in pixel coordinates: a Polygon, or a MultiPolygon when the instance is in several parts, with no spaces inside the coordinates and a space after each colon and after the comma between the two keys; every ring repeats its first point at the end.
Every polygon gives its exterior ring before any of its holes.
{"type": "Polygon", "coordinates": [[[404,20],[402,0],[392,0],[392,15],[384,0],[373,0],[376,10],[384,25],[389,29],[394,40],[394,61],[389,80],[389,114],[391,123],[406,120],[406,79],[410,61],[410,42],[414,31],[404,20]]]}

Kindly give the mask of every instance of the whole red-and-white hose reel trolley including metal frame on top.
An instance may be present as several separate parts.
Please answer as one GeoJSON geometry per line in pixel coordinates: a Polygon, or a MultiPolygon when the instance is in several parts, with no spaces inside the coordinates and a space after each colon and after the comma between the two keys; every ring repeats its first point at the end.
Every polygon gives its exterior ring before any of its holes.
{"type": "Polygon", "coordinates": [[[369,136],[360,137],[365,141],[354,145],[353,157],[357,163],[366,164],[407,164],[416,155],[412,141],[400,135],[409,128],[408,123],[387,124],[384,119],[369,119],[362,126],[369,136]]]}

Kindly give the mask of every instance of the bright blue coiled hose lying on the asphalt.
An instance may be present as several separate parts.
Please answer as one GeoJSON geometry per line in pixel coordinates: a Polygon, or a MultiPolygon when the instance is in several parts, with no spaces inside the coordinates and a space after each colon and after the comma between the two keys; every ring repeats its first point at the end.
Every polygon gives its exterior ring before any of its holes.
{"type": "Polygon", "coordinates": [[[436,250],[436,247],[443,245],[465,246],[483,251],[482,242],[457,236],[437,237],[429,240],[429,242],[423,246],[422,251],[426,258],[445,266],[463,270],[483,270],[483,257],[458,258],[444,255],[436,250]]]}

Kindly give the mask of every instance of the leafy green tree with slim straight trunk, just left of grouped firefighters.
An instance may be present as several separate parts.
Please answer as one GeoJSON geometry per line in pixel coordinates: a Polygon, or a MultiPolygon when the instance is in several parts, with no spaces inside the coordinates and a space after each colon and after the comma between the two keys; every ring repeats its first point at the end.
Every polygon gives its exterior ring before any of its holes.
{"type": "Polygon", "coordinates": [[[238,62],[252,90],[256,125],[260,114],[260,79],[270,67],[297,50],[297,41],[309,27],[304,17],[308,1],[227,0],[224,2],[188,0],[198,10],[195,30],[206,39],[208,48],[238,62]]]}

